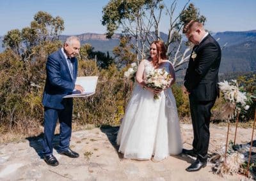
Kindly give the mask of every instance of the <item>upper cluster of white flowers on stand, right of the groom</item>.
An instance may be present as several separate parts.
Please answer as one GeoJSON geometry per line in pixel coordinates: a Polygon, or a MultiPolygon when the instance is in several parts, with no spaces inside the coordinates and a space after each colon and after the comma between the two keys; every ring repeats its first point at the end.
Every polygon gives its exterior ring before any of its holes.
{"type": "Polygon", "coordinates": [[[237,111],[248,110],[250,106],[247,104],[250,101],[246,92],[241,92],[236,80],[231,82],[219,82],[220,91],[223,93],[223,98],[226,104],[221,108],[221,117],[225,120],[233,119],[237,111]]]}

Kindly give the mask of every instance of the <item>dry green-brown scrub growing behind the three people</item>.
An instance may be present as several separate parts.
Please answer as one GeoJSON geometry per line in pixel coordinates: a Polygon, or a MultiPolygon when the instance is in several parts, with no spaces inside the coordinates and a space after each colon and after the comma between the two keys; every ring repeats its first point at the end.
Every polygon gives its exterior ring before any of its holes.
{"type": "MultiPolygon", "coordinates": [[[[22,60],[10,49],[0,54],[0,134],[16,131],[28,135],[42,131],[39,127],[42,127],[44,120],[41,100],[46,77],[45,62],[47,56],[58,47],[58,41],[52,45],[49,42],[42,43],[41,46],[34,47],[33,57],[27,61],[22,60]]],[[[73,121],[77,125],[120,124],[133,86],[131,82],[126,82],[125,85],[126,69],[118,69],[115,64],[101,69],[95,61],[79,59],[78,76],[99,76],[99,79],[93,96],[74,98],[73,121]]],[[[243,83],[245,91],[248,92],[255,92],[254,80],[255,75],[250,78],[239,78],[239,82],[243,83]]],[[[184,95],[177,84],[172,86],[172,91],[179,117],[189,117],[188,95],[184,95]]],[[[213,112],[220,112],[222,104],[223,99],[217,99],[213,112]]],[[[253,119],[254,110],[255,101],[246,114],[248,119],[253,119]]]]}

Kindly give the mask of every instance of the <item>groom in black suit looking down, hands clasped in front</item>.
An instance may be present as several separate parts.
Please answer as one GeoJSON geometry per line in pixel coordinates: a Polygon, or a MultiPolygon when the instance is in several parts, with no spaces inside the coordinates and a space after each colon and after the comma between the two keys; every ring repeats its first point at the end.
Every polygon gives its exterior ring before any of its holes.
{"type": "Polygon", "coordinates": [[[194,132],[193,149],[183,149],[182,152],[196,156],[195,163],[186,168],[186,171],[198,171],[207,164],[211,108],[219,96],[217,83],[221,48],[198,21],[192,20],[184,25],[183,33],[195,46],[189,59],[183,87],[184,92],[189,94],[194,132]]]}

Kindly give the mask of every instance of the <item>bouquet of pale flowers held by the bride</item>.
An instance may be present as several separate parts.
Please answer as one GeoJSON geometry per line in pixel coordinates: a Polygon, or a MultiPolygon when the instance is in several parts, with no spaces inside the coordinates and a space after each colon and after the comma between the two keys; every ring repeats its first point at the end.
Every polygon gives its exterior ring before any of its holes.
{"type": "MultiPolygon", "coordinates": [[[[147,87],[152,89],[166,89],[172,82],[172,76],[164,69],[153,69],[145,78],[147,87]]],[[[154,99],[159,99],[159,94],[154,95],[154,99]]]]}

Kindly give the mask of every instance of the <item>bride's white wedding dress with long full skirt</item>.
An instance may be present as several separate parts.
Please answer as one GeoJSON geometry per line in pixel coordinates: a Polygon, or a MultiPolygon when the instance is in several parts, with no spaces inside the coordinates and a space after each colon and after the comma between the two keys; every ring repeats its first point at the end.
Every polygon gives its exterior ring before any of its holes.
{"type": "MultiPolygon", "coordinates": [[[[164,62],[159,69],[169,71],[170,62],[164,62]]],[[[145,61],[144,77],[150,69],[145,61]]],[[[127,105],[124,119],[116,139],[119,152],[129,159],[151,159],[161,161],[182,151],[180,124],[172,89],[162,91],[159,99],[154,94],[135,85],[127,105]]]]}

